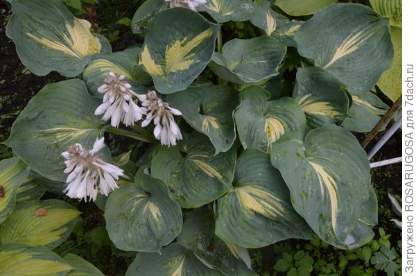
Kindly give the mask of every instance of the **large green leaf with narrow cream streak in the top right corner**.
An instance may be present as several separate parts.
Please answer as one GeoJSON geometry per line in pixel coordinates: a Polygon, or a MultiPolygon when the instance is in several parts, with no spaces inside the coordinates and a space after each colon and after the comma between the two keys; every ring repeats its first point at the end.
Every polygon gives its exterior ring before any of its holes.
{"type": "Polygon", "coordinates": [[[361,4],[318,10],[295,33],[295,41],[301,55],[343,81],[352,94],[372,89],[392,64],[388,19],[361,4]]]}

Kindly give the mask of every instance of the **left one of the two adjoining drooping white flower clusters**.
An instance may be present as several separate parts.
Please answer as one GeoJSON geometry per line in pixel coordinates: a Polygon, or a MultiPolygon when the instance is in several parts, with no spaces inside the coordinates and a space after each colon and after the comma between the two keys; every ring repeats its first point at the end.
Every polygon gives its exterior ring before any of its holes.
{"type": "Polygon", "coordinates": [[[116,76],[110,72],[105,77],[105,84],[98,87],[98,92],[104,94],[104,97],[103,103],[97,107],[94,114],[104,114],[104,121],[111,118],[111,125],[115,128],[119,126],[120,121],[123,121],[125,126],[132,126],[146,114],[146,108],[139,107],[133,99],[137,94],[123,79],[124,75],[116,76]]]}

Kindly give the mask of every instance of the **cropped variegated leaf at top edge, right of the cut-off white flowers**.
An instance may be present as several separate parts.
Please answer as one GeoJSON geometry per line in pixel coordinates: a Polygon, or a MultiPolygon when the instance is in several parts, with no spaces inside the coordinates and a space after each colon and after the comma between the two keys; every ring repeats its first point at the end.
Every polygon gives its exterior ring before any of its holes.
{"type": "Polygon", "coordinates": [[[247,21],[254,15],[255,6],[252,0],[207,0],[198,10],[208,12],[218,23],[225,23],[247,21]]]}

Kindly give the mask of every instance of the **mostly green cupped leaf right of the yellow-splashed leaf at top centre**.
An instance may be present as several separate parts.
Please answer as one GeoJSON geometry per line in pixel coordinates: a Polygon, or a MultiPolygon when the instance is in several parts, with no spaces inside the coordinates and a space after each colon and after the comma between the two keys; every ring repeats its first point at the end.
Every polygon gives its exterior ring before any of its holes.
{"type": "Polygon", "coordinates": [[[214,54],[209,67],[232,83],[258,83],[278,74],[277,67],[285,54],[286,46],[273,37],[234,39],[225,43],[222,54],[214,54]]]}

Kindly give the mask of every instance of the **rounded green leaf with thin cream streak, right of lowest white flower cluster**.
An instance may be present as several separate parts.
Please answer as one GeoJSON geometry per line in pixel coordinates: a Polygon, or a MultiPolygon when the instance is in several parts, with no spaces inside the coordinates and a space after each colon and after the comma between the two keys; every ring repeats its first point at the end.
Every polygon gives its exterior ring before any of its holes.
{"type": "Polygon", "coordinates": [[[105,205],[110,239],[125,251],[159,252],[180,233],[182,212],[168,196],[166,184],[141,169],[135,183],[110,194],[105,205]]]}

